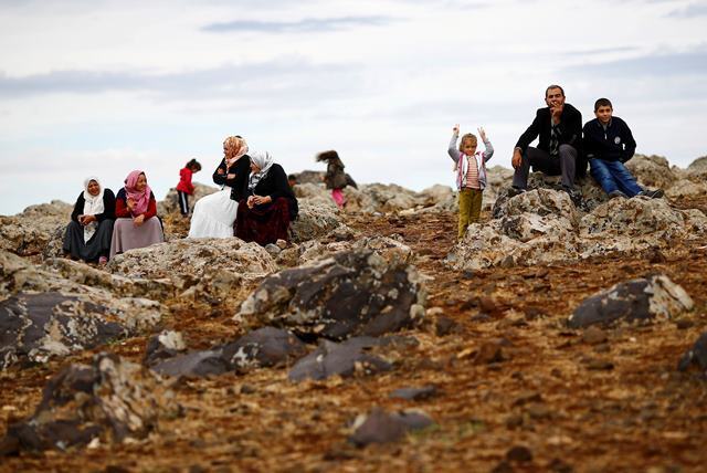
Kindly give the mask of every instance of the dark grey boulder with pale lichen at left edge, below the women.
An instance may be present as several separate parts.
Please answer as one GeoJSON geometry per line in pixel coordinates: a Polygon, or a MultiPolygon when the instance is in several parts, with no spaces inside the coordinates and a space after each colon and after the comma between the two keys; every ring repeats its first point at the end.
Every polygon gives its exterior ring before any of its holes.
{"type": "Polygon", "coordinates": [[[0,302],[0,369],[118,340],[159,320],[160,306],[150,299],[18,293],[0,302]]]}

